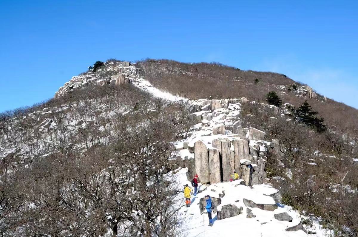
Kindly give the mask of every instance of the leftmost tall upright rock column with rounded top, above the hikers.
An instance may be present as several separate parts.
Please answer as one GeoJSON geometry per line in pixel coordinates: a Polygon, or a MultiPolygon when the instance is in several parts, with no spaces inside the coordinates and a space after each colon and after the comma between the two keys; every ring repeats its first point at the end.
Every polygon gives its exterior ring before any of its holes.
{"type": "Polygon", "coordinates": [[[203,141],[194,144],[195,171],[201,183],[210,182],[208,148],[203,141]]]}

